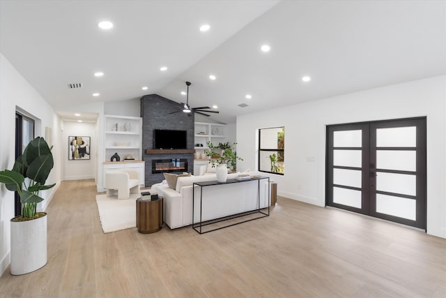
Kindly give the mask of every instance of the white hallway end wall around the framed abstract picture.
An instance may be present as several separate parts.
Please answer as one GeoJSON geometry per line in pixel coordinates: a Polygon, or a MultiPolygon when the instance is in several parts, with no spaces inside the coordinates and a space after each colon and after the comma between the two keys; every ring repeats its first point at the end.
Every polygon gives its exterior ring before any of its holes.
{"type": "Polygon", "coordinates": [[[89,122],[63,122],[63,133],[61,140],[62,152],[62,180],[95,179],[96,177],[96,124],[89,122]],[[90,137],[90,159],[68,160],[68,137],[84,136],[90,137]]]}

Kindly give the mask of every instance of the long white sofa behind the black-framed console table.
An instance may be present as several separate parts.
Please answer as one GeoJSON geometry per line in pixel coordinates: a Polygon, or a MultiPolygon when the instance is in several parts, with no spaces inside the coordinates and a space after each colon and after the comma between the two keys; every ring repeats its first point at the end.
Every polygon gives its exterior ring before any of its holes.
{"type": "MultiPolygon", "coordinates": [[[[250,174],[258,174],[250,172],[250,174]]],[[[229,174],[233,179],[238,173],[229,174]]],[[[215,174],[178,177],[176,189],[167,184],[154,184],[151,190],[164,198],[164,223],[175,229],[192,224],[192,184],[194,182],[215,181],[215,174]]],[[[258,207],[257,194],[260,193],[260,207],[268,207],[268,179],[253,179],[243,183],[222,184],[203,187],[202,221],[251,211],[258,207]]],[[[200,220],[200,187],[195,186],[194,223],[200,220]]]]}

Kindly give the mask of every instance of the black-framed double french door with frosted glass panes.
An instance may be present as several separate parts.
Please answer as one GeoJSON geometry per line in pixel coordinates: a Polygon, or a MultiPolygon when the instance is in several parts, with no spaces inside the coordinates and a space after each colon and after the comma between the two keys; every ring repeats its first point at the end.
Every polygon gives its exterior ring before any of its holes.
{"type": "Polygon", "coordinates": [[[426,118],[327,127],[326,204],[426,229],[426,118]]]}

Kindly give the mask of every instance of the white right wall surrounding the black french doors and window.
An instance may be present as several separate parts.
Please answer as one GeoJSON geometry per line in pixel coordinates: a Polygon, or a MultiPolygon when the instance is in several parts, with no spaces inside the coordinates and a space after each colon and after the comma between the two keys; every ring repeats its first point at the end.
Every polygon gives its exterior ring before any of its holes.
{"type": "Polygon", "coordinates": [[[427,232],[446,238],[444,75],[239,116],[237,153],[244,161],[237,167],[256,168],[258,128],[285,126],[285,174],[271,174],[278,194],[325,206],[327,125],[422,116],[427,117],[427,232]]]}

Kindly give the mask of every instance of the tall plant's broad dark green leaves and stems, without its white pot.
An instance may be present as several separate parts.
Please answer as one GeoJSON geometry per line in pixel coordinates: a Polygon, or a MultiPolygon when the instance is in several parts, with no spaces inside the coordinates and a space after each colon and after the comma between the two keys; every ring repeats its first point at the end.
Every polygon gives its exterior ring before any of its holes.
{"type": "Polygon", "coordinates": [[[51,148],[43,137],[31,140],[13,165],[13,170],[0,172],[0,183],[5,184],[9,191],[17,191],[22,204],[22,218],[36,218],[38,202],[42,202],[39,191],[54,187],[56,184],[45,185],[49,172],[54,165],[51,148]]]}

